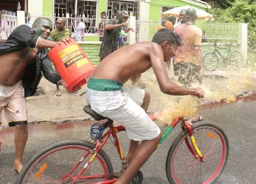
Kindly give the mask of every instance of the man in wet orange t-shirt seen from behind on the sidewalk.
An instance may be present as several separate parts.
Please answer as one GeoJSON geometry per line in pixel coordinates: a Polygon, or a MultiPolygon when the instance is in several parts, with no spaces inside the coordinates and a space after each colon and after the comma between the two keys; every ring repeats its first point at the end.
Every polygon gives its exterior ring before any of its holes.
{"type": "MultiPolygon", "coordinates": [[[[204,77],[204,63],[201,49],[202,31],[195,26],[196,10],[189,8],[186,11],[186,22],[176,26],[174,32],[181,38],[181,46],[177,49],[173,64],[174,75],[187,88],[192,85],[201,85],[204,77]]],[[[192,121],[201,121],[197,114],[192,121]]]]}

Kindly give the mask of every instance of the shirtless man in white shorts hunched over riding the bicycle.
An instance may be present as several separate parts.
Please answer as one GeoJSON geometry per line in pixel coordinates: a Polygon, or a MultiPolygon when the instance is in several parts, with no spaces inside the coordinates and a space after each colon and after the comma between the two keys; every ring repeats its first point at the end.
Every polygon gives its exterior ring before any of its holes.
{"type": "Polygon", "coordinates": [[[173,31],[160,29],[152,42],[125,46],[105,57],[89,78],[86,100],[91,109],[122,124],[131,140],[127,156],[129,164],[117,184],[126,184],[132,180],[162,138],[159,127],[128,93],[122,91],[122,85],[152,67],[163,93],[198,98],[204,96],[201,88],[181,87],[170,81],[167,75],[164,62],[173,57],[179,44],[179,36],[173,31]],[[139,144],[139,141],[142,143],[139,144]]]}

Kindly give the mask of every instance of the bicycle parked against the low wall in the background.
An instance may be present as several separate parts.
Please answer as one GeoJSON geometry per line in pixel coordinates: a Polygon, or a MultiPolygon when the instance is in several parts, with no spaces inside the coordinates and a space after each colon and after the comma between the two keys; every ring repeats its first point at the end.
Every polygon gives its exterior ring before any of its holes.
{"type": "Polygon", "coordinates": [[[204,55],[204,68],[207,71],[214,71],[218,68],[220,60],[225,66],[230,66],[233,69],[239,69],[243,66],[243,55],[241,52],[232,51],[232,43],[226,43],[227,48],[217,46],[217,42],[214,43],[214,50],[204,55]],[[226,55],[222,54],[218,49],[226,49],[226,55]]]}

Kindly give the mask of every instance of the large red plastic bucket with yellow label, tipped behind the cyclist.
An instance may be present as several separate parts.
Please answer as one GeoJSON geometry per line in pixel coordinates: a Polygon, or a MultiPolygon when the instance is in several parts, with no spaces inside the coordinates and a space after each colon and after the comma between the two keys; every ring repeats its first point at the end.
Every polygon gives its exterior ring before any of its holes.
{"type": "Polygon", "coordinates": [[[94,65],[75,40],[66,45],[61,43],[55,46],[49,52],[49,58],[70,92],[74,91],[76,86],[86,84],[94,70],[94,65]]]}

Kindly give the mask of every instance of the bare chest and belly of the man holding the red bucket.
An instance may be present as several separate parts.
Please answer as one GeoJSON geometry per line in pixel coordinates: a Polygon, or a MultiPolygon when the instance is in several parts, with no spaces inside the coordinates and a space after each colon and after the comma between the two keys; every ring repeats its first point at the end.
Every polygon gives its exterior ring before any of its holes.
{"type": "Polygon", "coordinates": [[[1,60],[1,85],[15,85],[24,75],[25,68],[35,63],[38,49],[26,47],[16,52],[0,54],[1,60]]]}

